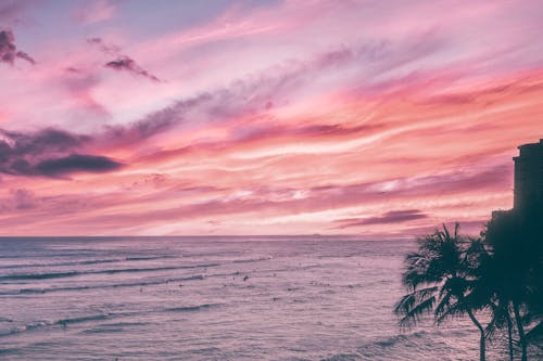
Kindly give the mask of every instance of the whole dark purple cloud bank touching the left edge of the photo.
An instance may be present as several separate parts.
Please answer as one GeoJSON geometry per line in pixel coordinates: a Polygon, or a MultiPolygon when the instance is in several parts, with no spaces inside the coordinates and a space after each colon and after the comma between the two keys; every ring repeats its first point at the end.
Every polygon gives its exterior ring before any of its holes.
{"type": "Polygon", "coordinates": [[[0,172],[12,176],[60,177],[73,172],[104,172],[121,164],[108,157],[81,155],[75,150],[91,139],[62,130],[35,133],[0,129],[0,172]]]}

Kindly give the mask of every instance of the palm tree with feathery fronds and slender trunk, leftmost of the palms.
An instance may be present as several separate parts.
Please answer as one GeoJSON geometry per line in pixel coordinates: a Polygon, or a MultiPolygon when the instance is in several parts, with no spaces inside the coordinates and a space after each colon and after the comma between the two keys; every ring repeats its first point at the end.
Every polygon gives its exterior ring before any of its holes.
{"type": "Polygon", "coordinates": [[[473,314],[476,307],[470,300],[473,280],[472,265],[467,249],[470,240],[458,234],[455,224],[451,234],[443,230],[419,238],[418,250],[405,258],[406,270],[402,282],[408,294],[394,308],[402,326],[416,324],[422,314],[432,313],[437,324],[451,317],[467,314],[480,334],[479,359],[485,359],[485,331],[473,314]]]}

